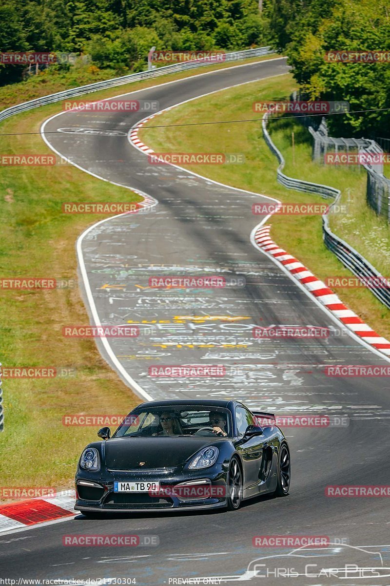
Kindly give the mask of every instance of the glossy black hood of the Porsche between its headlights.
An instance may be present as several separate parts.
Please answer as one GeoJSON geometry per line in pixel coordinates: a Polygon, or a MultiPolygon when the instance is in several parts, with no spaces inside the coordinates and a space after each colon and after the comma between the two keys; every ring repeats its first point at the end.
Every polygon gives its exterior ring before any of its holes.
{"type": "Polygon", "coordinates": [[[104,442],[105,462],[109,470],[174,468],[216,443],[209,437],[112,438],[104,442]]]}

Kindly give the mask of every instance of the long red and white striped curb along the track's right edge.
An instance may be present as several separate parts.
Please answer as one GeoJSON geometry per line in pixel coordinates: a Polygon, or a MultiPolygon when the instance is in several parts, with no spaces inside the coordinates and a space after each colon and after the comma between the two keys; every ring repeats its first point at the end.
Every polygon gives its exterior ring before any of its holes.
{"type": "Polygon", "coordinates": [[[348,329],[353,331],[356,336],[359,336],[364,342],[370,344],[375,349],[390,356],[390,342],[386,338],[382,338],[370,328],[367,323],[364,323],[358,315],[351,309],[348,309],[339,297],[320,281],[312,272],[308,270],[298,258],[288,254],[283,248],[279,248],[277,244],[270,237],[271,226],[261,226],[254,234],[254,241],[260,250],[272,255],[280,264],[282,264],[290,273],[294,275],[297,281],[305,285],[306,289],[310,291],[316,299],[321,302],[328,311],[330,311],[337,319],[340,320],[348,329]]]}

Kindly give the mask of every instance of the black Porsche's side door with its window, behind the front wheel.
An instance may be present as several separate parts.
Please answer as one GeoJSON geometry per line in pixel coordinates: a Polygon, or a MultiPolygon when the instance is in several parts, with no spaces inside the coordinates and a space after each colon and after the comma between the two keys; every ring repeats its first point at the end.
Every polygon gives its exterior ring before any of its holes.
{"type": "MultiPolygon", "coordinates": [[[[245,407],[236,407],[236,430],[237,437],[242,440],[248,425],[254,425],[253,415],[245,407]]],[[[263,436],[255,435],[243,443],[237,445],[244,466],[244,496],[256,495],[258,483],[260,482],[259,472],[261,459],[263,458],[263,436]]]]}

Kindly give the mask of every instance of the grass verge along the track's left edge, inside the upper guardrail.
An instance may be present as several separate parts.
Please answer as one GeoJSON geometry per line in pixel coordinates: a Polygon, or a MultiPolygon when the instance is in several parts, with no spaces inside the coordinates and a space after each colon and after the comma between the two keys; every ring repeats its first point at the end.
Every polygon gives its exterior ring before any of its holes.
{"type": "MultiPolygon", "coordinates": [[[[255,60],[263,58],[250,61],[255,60]]],[[[105,98],[222,67],[221,64],[203,67],[89,96],[105,98]]],[[[44,93],[48,93],[47,88],[44,93]]],[[[27,97],[23,94],[24,99],[27,97]]],[[[40,138],[40,125],[60,110],[60,104],[50,104],[2,122],[0,134],[12,134],[1,137],[2,154],[51,154],[40,138]],[[36,134],[23,134],[29,132],[36,134]]],[[[2,168],[1,277],[75,280],[75,240],[102,216],[64,216],[61,203],[137,200],[139,197],[130,190],[95,179],[73,166],[2,168]]],[[[88,322],[77,287],[51,291],[0,289],[3,366],[64,366],[75,368],[77,373],[74,378],[4,380],[5,428],[0,434],[2,486],[72,486],[80,450],[96,437],[97,428],[64,427],[63,415],[128,413],[139,403],[139,398],[102,360],[93,340],[62,338],[63,325],[88,322]]]]}

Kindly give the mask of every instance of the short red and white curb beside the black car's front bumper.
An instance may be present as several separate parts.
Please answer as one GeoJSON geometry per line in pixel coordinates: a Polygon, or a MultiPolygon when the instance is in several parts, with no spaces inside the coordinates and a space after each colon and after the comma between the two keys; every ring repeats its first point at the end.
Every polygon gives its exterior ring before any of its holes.
{"type": "Polygon", "coordinates": [[[21,527],[80,515],[74,510],[74,490],[63,490],[56,496],[21,500],[0,505],[0,534],[21,527]]]}

